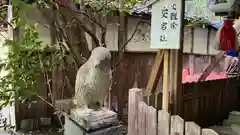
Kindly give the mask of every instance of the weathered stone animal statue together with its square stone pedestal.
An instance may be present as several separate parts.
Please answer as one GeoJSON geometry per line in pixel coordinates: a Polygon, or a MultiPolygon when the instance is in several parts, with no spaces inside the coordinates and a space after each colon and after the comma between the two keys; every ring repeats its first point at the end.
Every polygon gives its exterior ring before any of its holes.
{"type": "Polygon", "coordinates": [[[77,72],[73,99],[77,107],[65,117],[64,135],[122,135],[117,113],[102,107],[111,79],[110,51],[93,49],[77,72]]]}

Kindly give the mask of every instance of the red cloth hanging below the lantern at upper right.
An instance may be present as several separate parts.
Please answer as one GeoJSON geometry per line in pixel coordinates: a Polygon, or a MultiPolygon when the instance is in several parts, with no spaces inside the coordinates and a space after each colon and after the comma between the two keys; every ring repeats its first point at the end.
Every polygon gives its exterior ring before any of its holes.
{"type": "Polygon", "coordinates": [[[220,31],[220,45],[224,51],[236,50],[236,30],[233,27],[233,20],[224,20],[220,31]]]}

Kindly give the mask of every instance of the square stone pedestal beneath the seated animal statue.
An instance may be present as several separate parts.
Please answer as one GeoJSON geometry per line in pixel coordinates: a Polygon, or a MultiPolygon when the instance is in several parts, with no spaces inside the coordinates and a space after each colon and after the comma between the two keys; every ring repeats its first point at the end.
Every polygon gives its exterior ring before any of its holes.
{"type": "Polygon", "coordinates": [[[91,112],[74,109],[65,117],[64,128],[64,135],[122,135],[117,114],[107,109],[91,112]]]}

